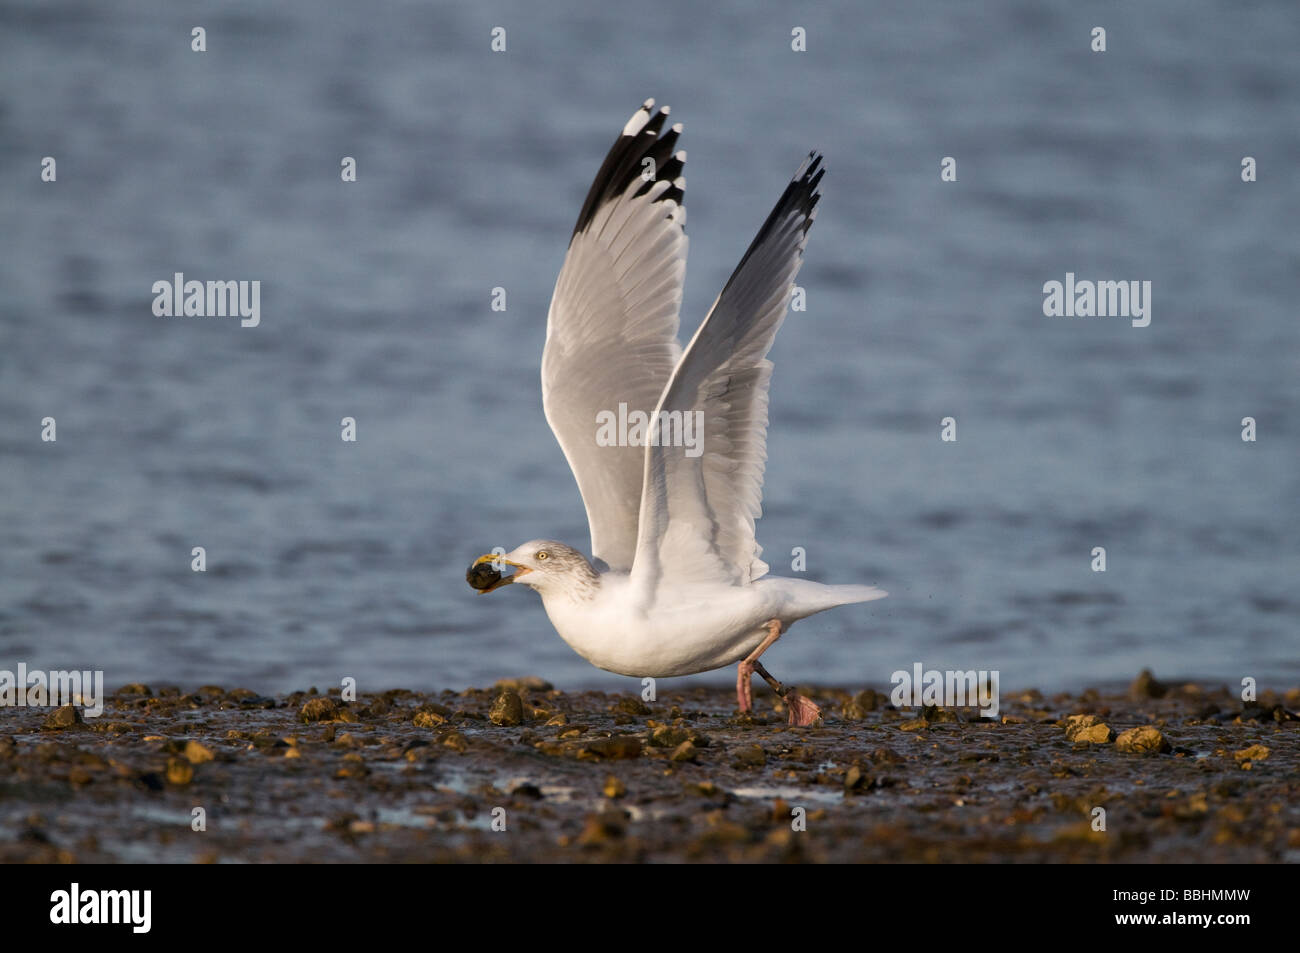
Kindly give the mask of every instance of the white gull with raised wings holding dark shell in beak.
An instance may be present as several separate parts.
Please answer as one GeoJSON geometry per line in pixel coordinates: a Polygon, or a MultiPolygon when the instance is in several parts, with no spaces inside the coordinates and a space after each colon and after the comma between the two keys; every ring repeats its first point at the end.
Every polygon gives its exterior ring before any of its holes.
{"type": "Polygon", "coordinates": [[[754,538],[767,459],[767,352],[785,319],[824,169],[794,173],[690,342],[677,342],[686,267],[686,153],[668,107],[633,113],[582,203],[555,282],[542,406],[577,480],[592,559],[532,540],[478,556],[480,592],[537,590],[560,637],[598,668],[634,677],[737,666],[789,723],[820,709],[759,662],[797,620],[884,598],[868,585],[767,575],[754,538]],[[512,567],[512,575],[503,575],[512,567]]]}

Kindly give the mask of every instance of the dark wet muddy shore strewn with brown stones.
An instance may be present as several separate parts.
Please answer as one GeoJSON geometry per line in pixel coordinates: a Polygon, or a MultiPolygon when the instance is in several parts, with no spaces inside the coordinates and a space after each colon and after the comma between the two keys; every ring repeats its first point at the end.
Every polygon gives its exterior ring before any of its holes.
{"type": "Polygon", "coordinates": [[[996,720],[807,690],[822,725],[758,684],[737,716],[719,688],[646,705],[537,679],[8,709],[0,862],[1300,861],[1300,690],[1141,677],[1004,693],[996,720]]]}

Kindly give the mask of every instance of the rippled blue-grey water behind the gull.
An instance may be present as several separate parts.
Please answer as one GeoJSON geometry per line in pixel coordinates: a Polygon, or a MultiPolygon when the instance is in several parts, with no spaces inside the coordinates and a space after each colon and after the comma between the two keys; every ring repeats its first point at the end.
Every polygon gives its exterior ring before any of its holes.
{"type": "Polygon", "coordinates": [[[0,667],[628,688],[463,573],[586,546],[545,315],[653,95],[686,125],[686,333],[827,155],[759,540],[890,597],[801,623],[780,677],[1295,684],[1297,34],[1286,4],[0,4],[0,667]],[[260,280],[261,325],[155,317],[174,272],[260,280]],[[1044,317],[1066,272],[1152,281],[1150,326],[1044,317]]]}

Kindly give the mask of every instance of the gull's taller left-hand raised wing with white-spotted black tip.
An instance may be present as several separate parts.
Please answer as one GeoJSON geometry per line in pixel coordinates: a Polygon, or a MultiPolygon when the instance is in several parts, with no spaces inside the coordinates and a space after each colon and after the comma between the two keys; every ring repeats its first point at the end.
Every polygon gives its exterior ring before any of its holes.
{"type": "MultiPolygon", "coordinates": [[[[598,415],[649,416],[681,354],[686,272],[681,126],[646,100],[615,140],[573,226],[546,321],[542,406],[577,480],[592,555],[630,569],[645,449],[601,446],[598,415]]],[[[623,417],[625,419],[625,417],[623,417]]],[[[633,434],[636,437],[636,434],[633,434]]]]}

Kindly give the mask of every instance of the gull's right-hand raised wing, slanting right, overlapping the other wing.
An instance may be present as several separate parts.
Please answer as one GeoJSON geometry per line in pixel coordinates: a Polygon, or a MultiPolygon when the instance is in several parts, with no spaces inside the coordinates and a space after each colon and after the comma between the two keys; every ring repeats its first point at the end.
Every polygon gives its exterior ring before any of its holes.
{"type": "Polygon", "coordinates": [[[656,407],[632,567],[632,582],[646,602],[662,581],[742,585],[767,572],[754,538],[767,459],[767,352],[803,261],[820,198],[820,165],[814,152],[794,173],[656,407]],[[673,446],[664,428],[679,428],[694,411],[703,415],[702,442],[694,450],[673,446]]]}

